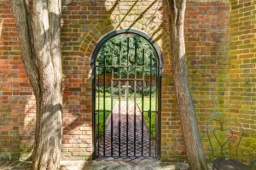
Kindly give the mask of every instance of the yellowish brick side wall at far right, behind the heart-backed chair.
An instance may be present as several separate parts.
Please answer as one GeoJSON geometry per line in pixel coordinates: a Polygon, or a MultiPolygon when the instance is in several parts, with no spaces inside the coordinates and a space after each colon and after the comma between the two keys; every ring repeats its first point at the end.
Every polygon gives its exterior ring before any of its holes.
{"type": "Polygon", "coordinates": [[[230,117],[241,123],[242,161],[256,159],[256,1],[231,0],[230,117]]]}

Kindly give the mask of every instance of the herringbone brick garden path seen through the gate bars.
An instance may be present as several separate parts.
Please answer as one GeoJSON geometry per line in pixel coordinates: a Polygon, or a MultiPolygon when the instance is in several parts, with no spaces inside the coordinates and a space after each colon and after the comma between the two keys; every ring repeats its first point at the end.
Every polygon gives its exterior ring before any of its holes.
{"type": "Polygon", "coordinates": [[[151,144],[149,144],[148,128],[146,123],[142,122],[143,116],[140,107],[136,105],[135,111],[134,102],[129,102],[128,109],[126,110],[126,105],[126,101],[121,101],[120,108],[119,102],[113,107],[113,142],[111,141],[111,115],[109,115],[106,122],[105,146],[104,138],[102,137],[98,143],[98,155],[104,155],[105,147],[105,155],[111,156],[111,144],[113,144],[113,156],[119,156],[119,154],[120,156],[155,156],[154,140],[151,139],[151,144]],[[134,128],[134,112],[136,112],[136,130],[134,128]],[[128,118],[128,128],[126,127],[126,118],[128,118]],[[128,133],[126,133],[127,130],[128,133]]]}

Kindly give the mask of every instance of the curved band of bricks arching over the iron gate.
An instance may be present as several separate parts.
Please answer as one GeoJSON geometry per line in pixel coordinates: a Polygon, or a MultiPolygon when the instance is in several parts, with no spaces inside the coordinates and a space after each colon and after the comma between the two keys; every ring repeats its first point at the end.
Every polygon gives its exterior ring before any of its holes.
{"type": "Polygon", "coordinates": [[[148,35],[148,37],[152,38],[152,40],[157,44],[158,48],[160,48],[160,51],[163,54],[168,53],[168,50],[171,47],[171,42],[168,38],[169,33],[163,30],[163,28],[160,28],[160,25],[152,22],[148,23],[147,20],[148,19],[143,19],[141,20],[141,22],[137,22],[133,26],[131,26],[132,23],[129,22],[121,25],[118,22],[114,23],[111,20],[99,22],[91,29],[91,31],[84,35],[84,40],[79,48],[79,56],[87,58],[87,61],[90,60],[90,57],[94,49],[96,48],[96,44],[100,42],[102,37],[105,37],[106,35],[108,35],[108,33],[112,31],[118,31],[121,29],[134,29],[137,31],[142,31],[143,33],[148,35]],[[151,24],[153,26],[147,26],[148,24],[151,24]],[[165,45],[163,45],[163,42],[165,42],[165,45]]]}

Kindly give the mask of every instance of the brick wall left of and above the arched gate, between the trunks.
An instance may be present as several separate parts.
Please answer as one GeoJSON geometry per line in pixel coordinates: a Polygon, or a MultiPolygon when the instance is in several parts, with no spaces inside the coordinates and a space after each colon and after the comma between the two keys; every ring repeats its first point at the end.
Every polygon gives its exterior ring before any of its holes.
{"type": "MultiPolygon", "coordinates": [[[[162,13],[161,1],[63,2],[61,40],[67,109],[63,159],[91,159],[90,57],[97,42],[110,31],[132,27],[147,32],[162,43],[163,37],[167,37],[167,25],[161,26],[162,13]]],[[[163,53],[168,53],[167,48],[160,48],[163,53]]]]}

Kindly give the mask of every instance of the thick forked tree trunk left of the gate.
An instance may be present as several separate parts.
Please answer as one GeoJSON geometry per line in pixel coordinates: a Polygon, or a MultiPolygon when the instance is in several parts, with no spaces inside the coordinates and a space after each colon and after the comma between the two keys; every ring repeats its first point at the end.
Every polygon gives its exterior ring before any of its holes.
{"type": "Polygon", "coordinates": [[[23,64],[37,101],[33,170],[60,168],[61,0],[10,0],[23,64]]]}

